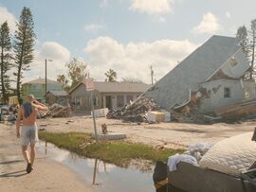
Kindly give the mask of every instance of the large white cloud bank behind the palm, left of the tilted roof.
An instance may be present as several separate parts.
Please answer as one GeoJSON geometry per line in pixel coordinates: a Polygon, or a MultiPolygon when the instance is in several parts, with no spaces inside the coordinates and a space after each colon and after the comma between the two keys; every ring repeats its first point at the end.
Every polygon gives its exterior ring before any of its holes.
{"type": "Polygon", "coordinates": [[[129,77],[149,83],[150,65],[154,67],[155,79],[160,79],[195,47],[188,40],[120,44],[110,37],[99,37],[90,40],[84,51],[90,57],[93,78],[104,80],[104,73],[112,68],[117,71],[119,80],[129,77]]]}

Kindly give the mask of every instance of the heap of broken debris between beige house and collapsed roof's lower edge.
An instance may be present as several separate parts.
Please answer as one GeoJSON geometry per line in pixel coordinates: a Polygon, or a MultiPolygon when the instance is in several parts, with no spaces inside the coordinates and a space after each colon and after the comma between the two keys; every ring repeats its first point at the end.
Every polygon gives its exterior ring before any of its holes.
{"type": "Polygon", "coordinates": [[[141,96],[126,107],[110,110],[109,113],[107,113],[107,117],[123,119],[124,121],[130,122],[147,122],[146,113],[158,110],[160,110],[160,108],[153,99],[141,96]]]}

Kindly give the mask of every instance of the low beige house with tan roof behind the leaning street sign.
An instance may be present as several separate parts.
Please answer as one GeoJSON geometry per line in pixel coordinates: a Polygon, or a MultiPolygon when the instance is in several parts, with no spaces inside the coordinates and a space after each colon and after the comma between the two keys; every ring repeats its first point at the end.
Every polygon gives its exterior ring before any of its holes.
{"type": "MultiPolygon", "coordinates": [[[[95,109],[101,108],[121,108],[137,96],[147,91],[150,85],[138,82],[94,82],[93,97],[95,109]]],[[[90,111],[90,92],[86,91],[85,82],[79,83],[70,92],[69,97],[76,109],[90,111]]]]}

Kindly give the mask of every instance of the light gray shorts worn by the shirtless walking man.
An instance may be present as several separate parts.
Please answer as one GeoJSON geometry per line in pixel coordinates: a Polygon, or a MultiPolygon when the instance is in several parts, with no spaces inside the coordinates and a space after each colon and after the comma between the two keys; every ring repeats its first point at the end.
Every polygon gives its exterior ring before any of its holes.
{"type": "Polygon", "coordinates": [[[35,144],[38,140],[37,127],[23,126],[21,129],[21,145],[28,146],[29,144],[35,144]]]}

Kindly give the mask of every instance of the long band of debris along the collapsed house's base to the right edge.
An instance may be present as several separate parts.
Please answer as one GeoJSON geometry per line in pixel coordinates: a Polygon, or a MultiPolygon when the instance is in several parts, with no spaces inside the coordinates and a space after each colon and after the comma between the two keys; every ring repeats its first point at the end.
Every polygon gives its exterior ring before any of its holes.
{"type": "MultiPolygon", "coordinates": [[[[126,107],[110,110],[107,113],[107,118],[122,119],[128,122],[155,123],[171,121],[170,113],[168,113],[162,110],[153,99],[140,96],[126,107]],[[165,119],[163,120],[163,118],[165,119]]],[[[215,107],[213,113],[200,112],[200,100],[191,100],[182,107],[173,108],[171,115],[172,121],[180,123],[213,124],[245,121],[256,118],[256,99],[247,99],[231,105],[215,107]]]]}

